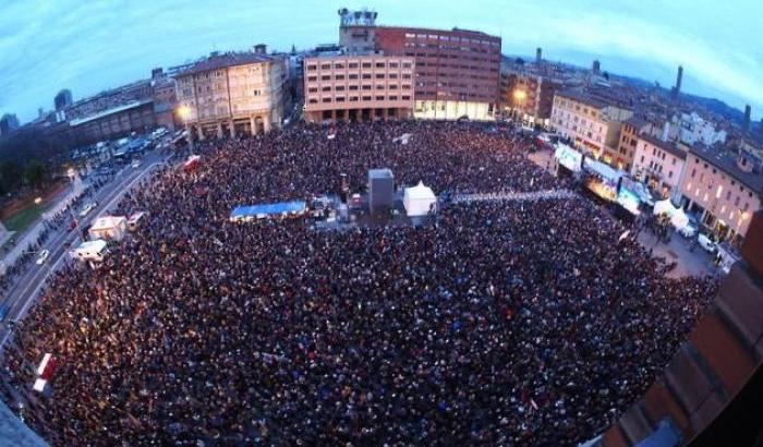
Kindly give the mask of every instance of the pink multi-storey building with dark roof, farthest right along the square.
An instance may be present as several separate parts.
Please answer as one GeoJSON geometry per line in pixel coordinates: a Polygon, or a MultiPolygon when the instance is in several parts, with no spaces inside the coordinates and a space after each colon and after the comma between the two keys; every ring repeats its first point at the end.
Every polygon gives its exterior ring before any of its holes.
{"type": "Polygon", "coordinates": [[[763,176],[744,150],[695,145],[687,154],[681,205],[719,239],[740,243],[761,208],[763,176]]]}

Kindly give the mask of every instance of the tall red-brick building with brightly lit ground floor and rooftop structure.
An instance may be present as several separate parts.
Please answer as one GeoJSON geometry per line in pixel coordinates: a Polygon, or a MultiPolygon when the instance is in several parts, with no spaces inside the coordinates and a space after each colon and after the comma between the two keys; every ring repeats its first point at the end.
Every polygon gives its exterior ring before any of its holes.
{"type": "Polygon", "coordinates": [[[414,58],[414,116],[492,120],[499,100],[500,37],[482,32],[377,26],[376,14],[347,10],[340,44],[350,52],[414,58]],[[372,20],[373,19],[373,20],[372,20]]]}

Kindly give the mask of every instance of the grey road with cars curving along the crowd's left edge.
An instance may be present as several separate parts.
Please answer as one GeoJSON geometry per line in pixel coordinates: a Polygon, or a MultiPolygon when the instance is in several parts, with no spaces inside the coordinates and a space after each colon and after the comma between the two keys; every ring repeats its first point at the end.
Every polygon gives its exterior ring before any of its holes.
{"type": "Polygon", "coordinates": [[[64,225],[61,229],[50,234],[48,241],[43,245],[43,249],[50,251],[48,259],[43,265],[32,264],[24,275],[16,280],[15,286],[8,291],[2,301],[2,304],[8,309],[8,313],[0,324],[0,347],[5,343],[11,335],[11,322],[19,321],[26,315],[50,274],[64,263],[68,256],[68,247],[78,244],[82,228],[90,225],[101,215],[107,214],[122,198],[125,192],[130,191],[141,180],[147,178],[156,168],[164,166],[167,159],[168,156],[159,154],[158,150],[153,150],[144,156],[143,162],[138,168],[132,168],[128,165],[110,182],[101,186],[88,198],[89,202],[97,202],[98,206],[88,213],[87,216],[78,219],[80,225],[77,228],[71,229],[71,227],[64,225]]]}

